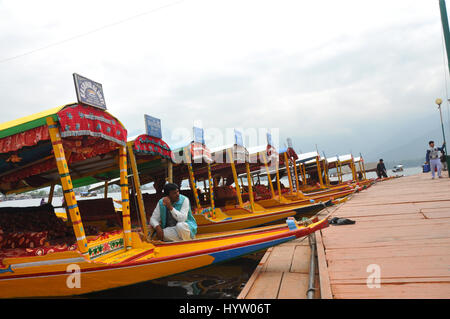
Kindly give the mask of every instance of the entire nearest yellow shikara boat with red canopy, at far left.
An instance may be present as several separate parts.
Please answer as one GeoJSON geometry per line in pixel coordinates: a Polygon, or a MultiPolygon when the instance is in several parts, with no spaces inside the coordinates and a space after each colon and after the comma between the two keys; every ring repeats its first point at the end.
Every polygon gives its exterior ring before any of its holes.
{"type": "Polygon", "coordinates": [[[309,225],[288,219],[185,242],[148,241],[141,229],[132,229],[126,138],[117,118],[81,104],[0,125],[0,191],[49,186],[51,193],[46,205],[0,209],[0,297],[79,295],[131,285],[239,257],[328,225],[326,219],[309,225]],[[82,201],[74,194],[74,187],[108,180],[117,163],[119,219],[112,199],[82,201]],[[56,184],[62,186],[66,223],[51,204],[56,184]]]}

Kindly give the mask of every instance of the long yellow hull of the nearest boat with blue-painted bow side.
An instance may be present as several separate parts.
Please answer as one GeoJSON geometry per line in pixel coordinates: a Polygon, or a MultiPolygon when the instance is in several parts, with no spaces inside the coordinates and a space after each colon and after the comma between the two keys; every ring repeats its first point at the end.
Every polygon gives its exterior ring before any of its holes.
{"type": "Polygon", "coordinates": [[[327,226],[327,219],[308,226],[288,219],[287,224],[189,242],[142,243],[91,262],[77,252],[4,260],[10,264],[0,273],[0,298],[70,296],[132,285],[251,254],[327,226]]]}

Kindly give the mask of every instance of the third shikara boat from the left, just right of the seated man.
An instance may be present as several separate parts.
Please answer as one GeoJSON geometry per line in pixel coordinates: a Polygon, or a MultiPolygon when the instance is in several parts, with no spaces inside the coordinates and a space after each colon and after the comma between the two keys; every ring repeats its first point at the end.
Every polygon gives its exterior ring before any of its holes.
{"type": "MultiPolygon", "coordinates": [[[[182,190],[181,193],[190,198],[199,234],[255,227],[297,214],[291,207],[267,209],[251,198],[243,201],[242,197],[239,197],[240,190],[232,192],[231,196],[226,195],[225,198],[220,196],[221,187],[217,185],[217,178],[226,172],[228,182],[236,182],[239,187],[237,179],[234,179],[237,175],[233,175],[231,164],[215,162],[211,150],[200,142],[191,142],[173,153],[177,164],[173,165],[171,179],[178,185],[183,180],[189,180],[190,191],[182,190]],[[203,192],[198,186],[202,182],[203,192]]],[[[236,157],[236,153],[231,156],[236,157]]],[[[243,169],[245,170],[245,166],[243,169]]],[[[139,176],[146,178],[142,172],[139,172],[139,176]]],[[[229,186],[227,190],[230,190],[229,186]]],[[[308,206],[313,205],[308,203],[308,206]]]]}

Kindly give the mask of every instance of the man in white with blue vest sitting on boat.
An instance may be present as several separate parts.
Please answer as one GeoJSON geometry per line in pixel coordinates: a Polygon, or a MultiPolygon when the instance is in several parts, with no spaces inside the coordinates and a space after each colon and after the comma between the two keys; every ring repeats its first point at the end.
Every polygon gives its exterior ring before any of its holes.
{"type": "Polygon", "coordinates": [[[192,216],[189,199],[180,195],[176,184],[164,185],[164,197],[158,201],[150,224],[159,240],[179,241],[195,238],[197,223],[192,216]]]}

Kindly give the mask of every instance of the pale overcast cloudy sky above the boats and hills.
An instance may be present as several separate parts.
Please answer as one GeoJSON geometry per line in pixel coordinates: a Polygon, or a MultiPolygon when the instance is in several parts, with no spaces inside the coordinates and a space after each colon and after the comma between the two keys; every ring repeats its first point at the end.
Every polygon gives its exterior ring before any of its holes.
{"type": "Polygon", "coordinates": [[[439,129],[449,91],[438,0],[0,0],[0,43],[1,122],[76,101],[76,72],[130,136],[146,113],[170,145],[200,122],[211,147],[275,129],[372,154],[439,129]]]}

